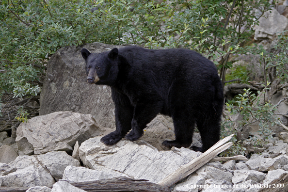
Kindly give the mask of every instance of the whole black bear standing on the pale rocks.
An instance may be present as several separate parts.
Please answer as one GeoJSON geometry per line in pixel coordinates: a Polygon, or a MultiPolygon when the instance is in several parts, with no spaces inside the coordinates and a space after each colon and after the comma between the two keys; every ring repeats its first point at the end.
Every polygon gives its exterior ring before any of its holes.
{"type": "Polygon", "coordinates": [[[183,48],[137,46],[99,54],[83,48],[81,54],[87,81],[109,85],[112,90],[116,130],[101,138],[104,144],[116,144],[125,136],[138,140],[158,113],[173,118],[176,139],[164,141],[167,147],[189,147],[195,126],[203,147],[193,150],[204,152],[219,141],[222,82],[215,65],[201,54],[183,48]]]}

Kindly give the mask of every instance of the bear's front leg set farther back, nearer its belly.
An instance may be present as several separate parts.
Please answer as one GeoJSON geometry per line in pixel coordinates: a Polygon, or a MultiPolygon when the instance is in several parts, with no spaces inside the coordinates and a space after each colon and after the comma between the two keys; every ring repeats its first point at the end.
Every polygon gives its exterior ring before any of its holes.
{"type": "Polygon", "coordinates": [[[131,122],[132,130],[126,135],[129,141],[138,140],[144,133],[143,129],[152,121],[161,110],[161,103],[149,102],[137,104],[131,122]]]}

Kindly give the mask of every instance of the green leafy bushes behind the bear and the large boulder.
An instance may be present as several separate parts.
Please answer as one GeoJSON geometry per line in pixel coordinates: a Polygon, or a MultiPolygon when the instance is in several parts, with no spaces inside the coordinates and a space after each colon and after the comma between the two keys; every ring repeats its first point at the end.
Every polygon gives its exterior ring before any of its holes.
{"type": "Polygon", "coordinates": [[[191,48],[215,63],[224,82],[230,54],[250,40],[251,26],[269,6],[268,0],[2,0],[0,121],[16,128],[14,118],[38,114],[27,103],[39,102],[48,60],[64,46],[191,48]]]}

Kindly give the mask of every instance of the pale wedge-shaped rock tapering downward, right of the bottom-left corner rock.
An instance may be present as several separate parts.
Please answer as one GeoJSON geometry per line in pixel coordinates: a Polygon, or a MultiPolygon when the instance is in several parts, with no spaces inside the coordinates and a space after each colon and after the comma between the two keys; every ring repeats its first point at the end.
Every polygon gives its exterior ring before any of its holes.
{"type": "Polygon", "coordinates": [[[46,166],[56,181],[62,179],[64,170],[68,165],[80,166],[80,162],[69,156],[65,151],[51,151],[38,155],[37,158],[46,166]]]}

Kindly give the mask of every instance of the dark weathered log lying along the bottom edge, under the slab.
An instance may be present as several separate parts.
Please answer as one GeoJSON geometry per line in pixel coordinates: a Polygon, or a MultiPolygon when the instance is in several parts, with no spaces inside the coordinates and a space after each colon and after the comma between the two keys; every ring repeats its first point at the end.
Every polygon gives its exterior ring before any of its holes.
{"type": "MultiPolygon", "coordinates": [[[[167,187],[151,183],[145,179],[132,179],[125,176],[71,183],[86,192],[170,192],[167,187]]],[[[51,186],[48,186],[51,188],[51,186]]],[[[29,188],[0,187],[0,192],[26,192],[29,188]]]]}

